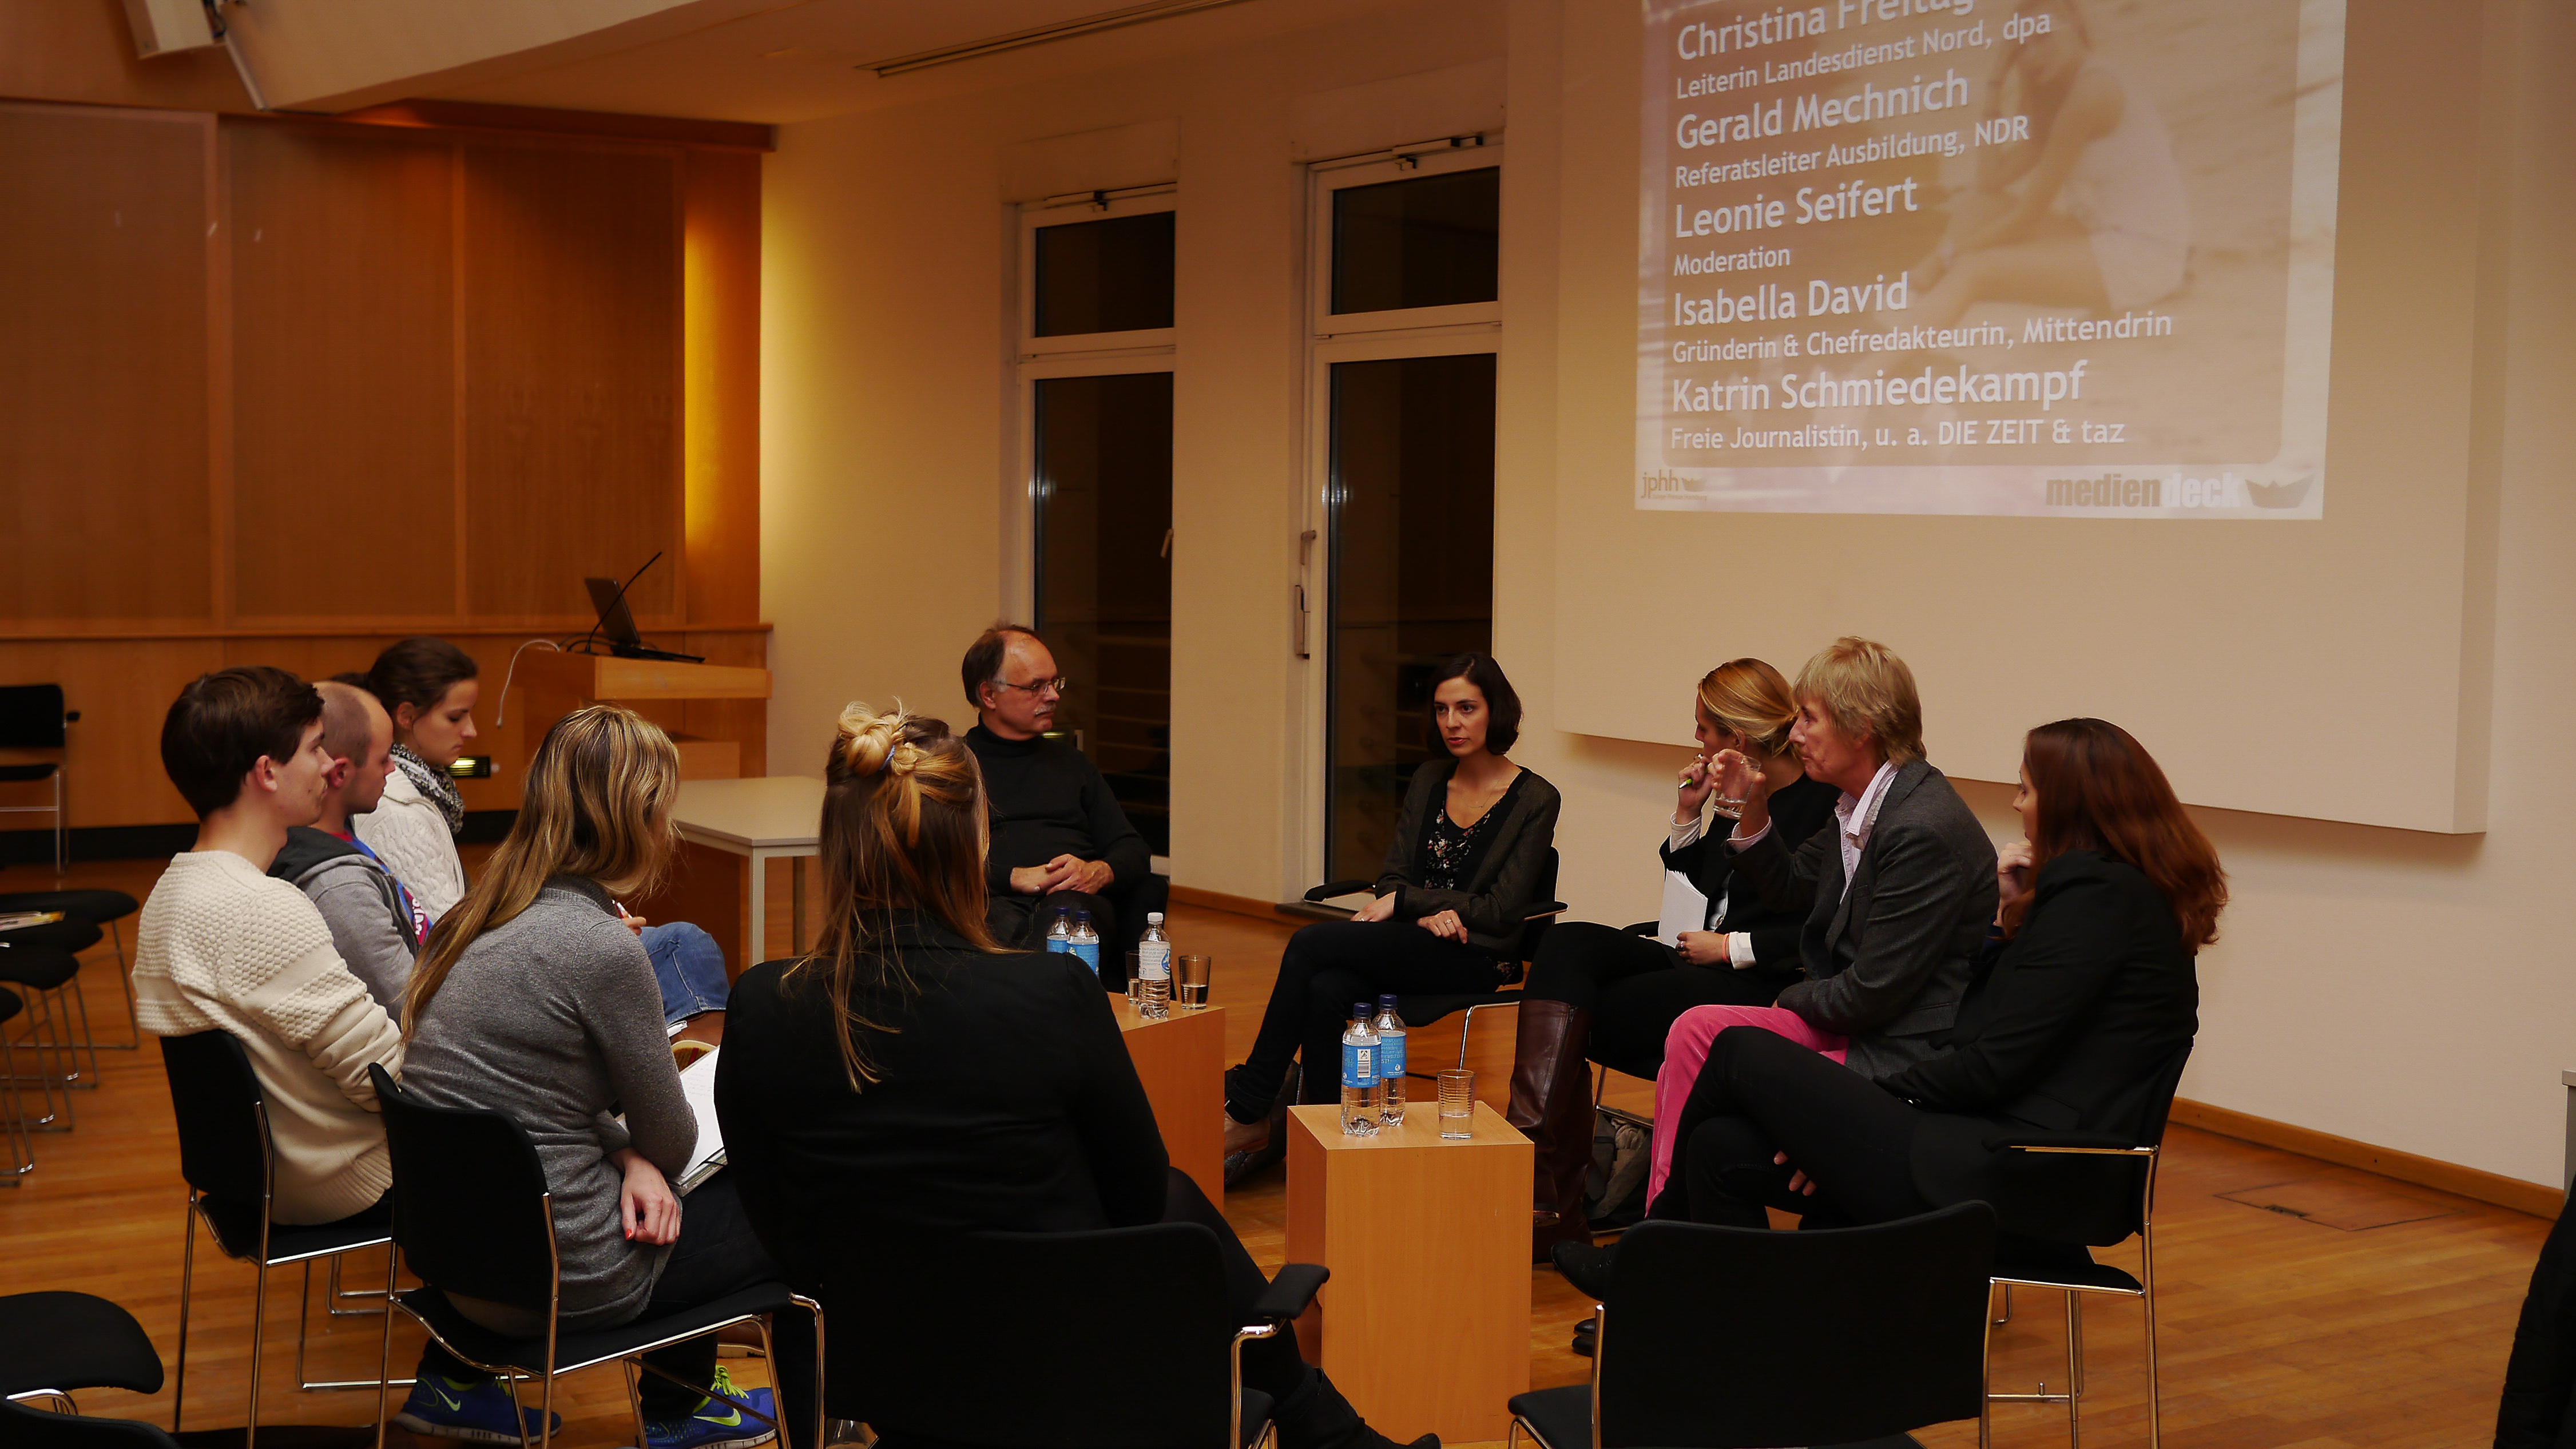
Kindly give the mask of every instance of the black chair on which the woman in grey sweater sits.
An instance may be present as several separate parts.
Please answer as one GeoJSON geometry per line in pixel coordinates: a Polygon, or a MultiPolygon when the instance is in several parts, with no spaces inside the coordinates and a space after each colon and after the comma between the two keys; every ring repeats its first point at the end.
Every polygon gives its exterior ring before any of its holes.
{"type": "MultiPolygon", "coordinates": [[[[536,1158],[536,1143],[528,1140],[526,1127],[502,1112],[430,1107],[397,1086],[381,1066],[368,1066],[366,1073],[376,1084],[376,1102],[384,1107],[384,1140],[394,1150],[394,1243],[420,1282],[430,1284],[394,1295],[394,1274],[386,1264],[386,1295],[402,1313],[420,1320],[446,1351],[487,1374],[507,1377],[513,1392],[523,1377],[541,1380],[541,1444],[554,1441],[554,1380],[559,1374],[634,1359],[737,1323],[757,1323],[760,1341],[768,1346],[765,1318],[773,1313],[804,1310],[814,1315],[814,1380],[822,1382],[822,1305],[783,1282],[755,1284],[685,1313],[564,1333],[556,1313],[562,1261],[554,1246],[554,1194],[546,1192],[546,1168],[536,1158]],[[536,1338],[492,1333],[456,1313],[456,1305],[448,1302],[451,1292],[536,1313],[546,1320],[546,1333],[536,1338]]],[[[770,1361],[775,1364],[775,1354],[770,1361]]],[[[641,1369],[659,1372],[652,1364],[641,1364],[641,1369]]],[[[706,1392],[706,1385],[690,1387],[706,1392]]],[[[644,1413],[634,1403],[631,1372],[626,1392],[641,1441],[644,1413]]],[[[752,1405],[732,1403],[760,1418],[752,1405]]],[[[379,1444],[386,1408],[379,1392],[379,1444]]],[[[775,1421],[770,1423],[775,1428],[775,1421]]],[[[811,1434],[806,1444],[819,1446],[819,1405],[811,1434]]]]}

